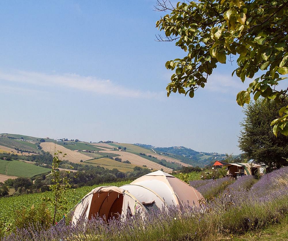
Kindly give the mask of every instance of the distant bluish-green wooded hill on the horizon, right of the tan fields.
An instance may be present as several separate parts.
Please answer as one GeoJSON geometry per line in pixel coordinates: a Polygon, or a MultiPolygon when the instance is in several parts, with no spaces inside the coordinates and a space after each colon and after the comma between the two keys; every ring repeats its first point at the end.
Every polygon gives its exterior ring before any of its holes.
{"type": "Polygon", "coordinates": [[[152,150],[158,154],[169,156],[184,163],[204,167],[204,165],[210,164],[215,160],[224,160],[225,154],[219,154],[214,152],[198,152],[184,146],[172,146],[172,147],[154,147],[146,144],[135,144],[148,150],[152,150]]]}

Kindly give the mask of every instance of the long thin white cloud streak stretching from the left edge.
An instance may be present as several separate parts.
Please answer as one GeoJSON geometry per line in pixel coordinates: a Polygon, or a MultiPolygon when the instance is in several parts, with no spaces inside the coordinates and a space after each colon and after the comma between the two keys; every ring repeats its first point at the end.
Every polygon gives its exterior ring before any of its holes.
{"type": "Polygon", "coordinates": [[[98,79],[95,76],[79,74],[46,74],[41,72],[0,71],[0,80],[25,83],[34,86],[64,87],[80,91],[94,92],[102,95],[113,95],[132,98],[157,98],[160,93],[130,89],[113,83],[110,80],[98,79]]]}

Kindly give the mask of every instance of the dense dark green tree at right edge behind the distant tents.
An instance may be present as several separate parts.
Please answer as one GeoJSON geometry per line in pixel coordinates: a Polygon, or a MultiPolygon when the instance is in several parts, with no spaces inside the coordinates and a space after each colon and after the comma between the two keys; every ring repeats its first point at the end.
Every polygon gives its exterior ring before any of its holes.
{"type": "MultiPolygon", "coordinates": [[[[281,104],[288,105],[288,99],[281,104]]],[[[239,147],[248,158],[264,162],[270,167],[288,164],[288,137],[276,137],[270,126],[271,121],[278,116],[281,104],[260,98],[247,105],[243,111],[246,117],[241,123],[243,130],[239,137],[239,147]]]]}

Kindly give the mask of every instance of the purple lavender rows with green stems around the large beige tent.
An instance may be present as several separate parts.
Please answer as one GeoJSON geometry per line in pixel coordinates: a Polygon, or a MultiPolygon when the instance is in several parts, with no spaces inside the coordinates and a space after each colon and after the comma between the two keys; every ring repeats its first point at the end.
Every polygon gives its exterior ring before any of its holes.
{"type": "Polygon", "coordinates": [[[231,238],[281,222],[288,212],[288,167],[236,181],[229,178],[192,181],[207,200],[201,207],[177,209],[133,217],[109,224],[93,219],[45,229],[30,225],[1,240],[216,240],[231,238]]]}

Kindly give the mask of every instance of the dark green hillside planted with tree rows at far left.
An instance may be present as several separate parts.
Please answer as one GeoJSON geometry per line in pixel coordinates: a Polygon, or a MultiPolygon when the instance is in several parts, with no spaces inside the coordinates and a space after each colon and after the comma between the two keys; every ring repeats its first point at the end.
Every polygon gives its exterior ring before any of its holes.
{"type": "Polygon", "coordinates": [[[0,145],[6,146],[12,149],[18,148],[19,150],[22,150],[23,152],[31,152],[31,153],[37,153],[37,154],[40,153],[35,144],[27,142],[27,141],[17,141],[14,139],[10,139],[8,137],[0,136],[0,145]]]}

